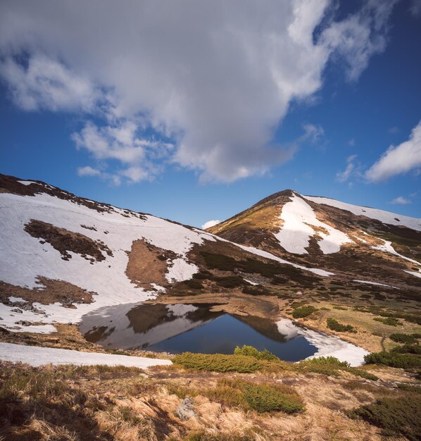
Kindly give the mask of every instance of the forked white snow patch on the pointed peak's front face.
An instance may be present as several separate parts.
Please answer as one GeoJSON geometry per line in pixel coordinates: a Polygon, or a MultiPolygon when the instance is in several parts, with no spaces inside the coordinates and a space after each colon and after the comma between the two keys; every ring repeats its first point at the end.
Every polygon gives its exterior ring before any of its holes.
{"type": "Polygon", "coordinates": [[[308,254],[306,248],[310,242],[310,237],[318,235],[318,245],[323,254],[332,254],[340,251],[341,246],[346,243],[353,243],[344,232],[333,228],[327,223],[321,222],[315,212],[304,199],[295,193],[290,198],[291,201],[284,204],[279,218],[283,224],[275,234],[277,240],[289,253],[308,254]],[[322,230],[316,231],[322,228],[322,230]]]}

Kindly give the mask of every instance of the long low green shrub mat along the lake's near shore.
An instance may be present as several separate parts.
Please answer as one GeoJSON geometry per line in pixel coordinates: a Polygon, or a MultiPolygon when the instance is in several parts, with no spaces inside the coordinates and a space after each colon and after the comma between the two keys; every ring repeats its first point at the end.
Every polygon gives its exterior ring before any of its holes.
{"type": "Polygon", "coordinates": [[[258,371],[262,366],[257,359],[246,355],[227,354],[193,354],[183,352],[174,357],[174,363],[187,369],[214,372],[251,373],[258,371]]]}

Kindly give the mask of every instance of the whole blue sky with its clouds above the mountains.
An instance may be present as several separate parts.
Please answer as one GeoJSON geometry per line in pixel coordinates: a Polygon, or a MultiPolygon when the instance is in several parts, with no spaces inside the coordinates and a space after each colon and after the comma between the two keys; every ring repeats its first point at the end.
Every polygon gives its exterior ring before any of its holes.
{"type": "Polygon", "coordinates": [[[2,2],[0,172],[196,226],[286,188],[421,217],[420,2],[297,2],[2,2]]]}

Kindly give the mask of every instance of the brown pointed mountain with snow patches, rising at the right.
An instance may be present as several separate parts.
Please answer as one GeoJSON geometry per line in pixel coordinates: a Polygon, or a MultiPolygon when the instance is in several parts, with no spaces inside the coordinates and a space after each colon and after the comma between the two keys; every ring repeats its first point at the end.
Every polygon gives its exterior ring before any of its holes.
{"type": "Polygon", "coordinates": [[[344,278],[420,288],[421,219],[285,190],[208,231],[344,278]]]}

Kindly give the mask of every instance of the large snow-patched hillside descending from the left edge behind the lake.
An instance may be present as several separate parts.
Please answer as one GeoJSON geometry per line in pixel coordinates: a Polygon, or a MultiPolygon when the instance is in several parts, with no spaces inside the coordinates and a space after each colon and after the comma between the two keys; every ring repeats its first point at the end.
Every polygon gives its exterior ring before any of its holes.
{"type": "Polygon", "coordinates": [[[77,323],[101,306],[163,293],[251,287],[245,278],[259,271],[283,274],[293,287],[330,275],[197,228],[6,175],[0,176],[0,223],[1,325],[17,331],[49,333],[54,321],[77,323]]]}

